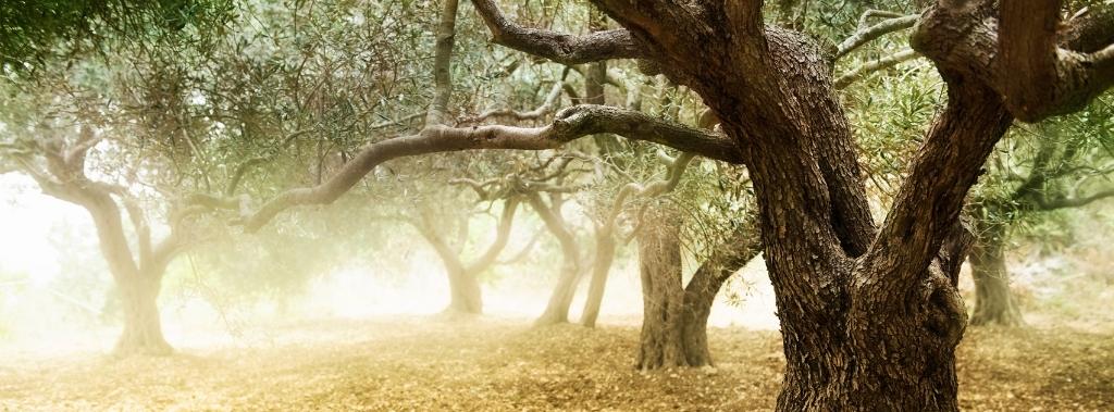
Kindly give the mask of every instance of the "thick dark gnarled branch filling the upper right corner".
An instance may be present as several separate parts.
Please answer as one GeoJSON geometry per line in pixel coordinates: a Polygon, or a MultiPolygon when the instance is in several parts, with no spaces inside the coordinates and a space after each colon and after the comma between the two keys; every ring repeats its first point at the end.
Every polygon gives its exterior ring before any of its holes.
{"type": "Polygon", "coordinates": [[[1059,29],[1059,3],[937,6],[911,43],[941,71],[993,88],[1023,121],[1076,111],[1114,86],[1114,46],[1095,40],[1111,39],[1114,29],[1082,17],[1059,29]]]}

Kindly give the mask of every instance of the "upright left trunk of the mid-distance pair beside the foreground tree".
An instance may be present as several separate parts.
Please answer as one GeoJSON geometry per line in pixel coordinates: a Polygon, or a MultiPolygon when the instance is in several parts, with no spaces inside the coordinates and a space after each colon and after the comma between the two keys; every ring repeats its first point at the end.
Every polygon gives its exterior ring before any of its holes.
{"type": "Polygon", "coordinates": [[[652,222],[638,233],[643,316],[635,366],[642,371],[688,366],[682,340],[680,226],[676,215],[652,222]]]}

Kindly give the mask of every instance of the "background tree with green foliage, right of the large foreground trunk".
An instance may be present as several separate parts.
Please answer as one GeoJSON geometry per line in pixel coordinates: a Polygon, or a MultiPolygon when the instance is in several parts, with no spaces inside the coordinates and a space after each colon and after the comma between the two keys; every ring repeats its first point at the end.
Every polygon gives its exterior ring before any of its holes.
{"type": "Polygon", "coordinates": [[[1024,324],[1006,265],[1012,237],[1024,235],[1033,222],[1048,220],[1049,212],[1114,197],[1114,114],[1101,100],[1032,130],[1015,130],[991,156],[989,176],[968,213],[975,226],[968,256],[976,292],[971,324],[1024,324]]]}

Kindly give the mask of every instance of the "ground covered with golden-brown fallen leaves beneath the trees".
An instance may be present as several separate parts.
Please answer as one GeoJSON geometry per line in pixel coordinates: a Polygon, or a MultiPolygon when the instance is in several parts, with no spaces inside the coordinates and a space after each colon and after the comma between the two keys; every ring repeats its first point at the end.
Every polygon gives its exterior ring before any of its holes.
{"type": "MultiPolygon", "coordinates": [[[[961,406],[1114,410],[1114,335],[1093,331],[968,328],[961,406]]],[[[784,363],[776,332],[744,328],[711,330],[716,369],[657,373],[632,367],[636,326],[411,316],[272,332],[168,357],[2,359],[0,411],[770,410],[784,363]]]]}

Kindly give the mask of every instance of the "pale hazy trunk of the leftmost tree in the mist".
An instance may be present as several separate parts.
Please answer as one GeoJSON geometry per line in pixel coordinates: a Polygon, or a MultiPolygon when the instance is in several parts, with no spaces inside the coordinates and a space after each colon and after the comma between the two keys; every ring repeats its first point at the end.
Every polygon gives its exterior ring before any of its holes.
{"type": "Polygon", "coordinates": [[[165,355],[173,352],[163,337],[163,324],[158,314],[160,276],[120,282],[120,302],[124,310],[124,333],[116,343],[117,355],[165,355]]]}

